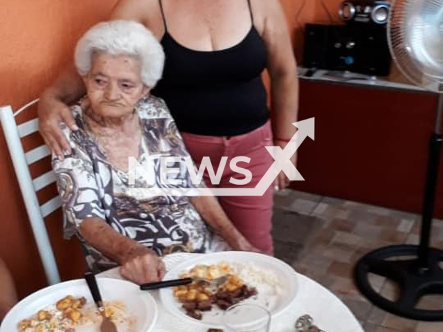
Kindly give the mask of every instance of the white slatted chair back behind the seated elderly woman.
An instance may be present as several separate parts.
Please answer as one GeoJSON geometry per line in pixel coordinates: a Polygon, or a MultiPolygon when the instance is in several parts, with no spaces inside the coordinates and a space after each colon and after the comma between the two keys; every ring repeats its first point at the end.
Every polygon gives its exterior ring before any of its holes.
{"type": "Polygon", "coordinates": [[[49,151],[46,145],[41,145],[35,149],[25,152],[21,144],[21,138],[38,131],[38,119],[26,121],[18,124],[15,122],[15,117],[25,111],[28,107],[37,103],[38,100],[29,102],[24,107],[21,107],[15,113],[12,112],[10,106],[0,107],[0,120],[3,133],[6,138],[9,153],[14,165],[15,174],[19,182],[21,195],[26,206],[30,225],[33,229],[37,248],[39,250],[40,258],[46,274],[46,279],[49,284],[56,284],[60,282],[60,275],[58,273],[57,264],[55,263],[53,249],[49,241],[48,233],[46,232],[46,225],[44,218],[60,208],[62,205],[60,196],[55,196],[46,203],[39,205],[37,200],[37,192],[44,187],[55,182],[55,175],[53,171],[46,172],[37,178],[31,178],[29,165],[49,156],[49,151]]]}

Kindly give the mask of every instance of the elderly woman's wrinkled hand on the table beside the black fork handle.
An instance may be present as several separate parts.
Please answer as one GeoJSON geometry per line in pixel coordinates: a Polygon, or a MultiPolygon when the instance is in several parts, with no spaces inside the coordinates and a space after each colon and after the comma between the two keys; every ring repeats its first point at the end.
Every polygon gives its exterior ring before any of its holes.
{"type": "Polygon", "coordinates": [[[127,259],[120,266],[120,275],[136,284],[159,282],[165,273],[163,260],[149,249],[127,259]]]}

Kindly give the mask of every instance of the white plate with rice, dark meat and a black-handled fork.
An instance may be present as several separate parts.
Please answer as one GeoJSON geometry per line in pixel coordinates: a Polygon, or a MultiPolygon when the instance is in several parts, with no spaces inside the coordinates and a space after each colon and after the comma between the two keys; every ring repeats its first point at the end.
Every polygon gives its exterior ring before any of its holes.
{"type": "Polygon", "coordinates": [[[221,327],[224,310],[233,304],[258,304],[275,318],[296,299],[298,281],[293,268],[280,259],[255,252],[199,255],[174,266],[163,279],[210,280],[223,276],[226,281],[216,286],[192,282],[161,288],[161,302],[172,315],[214,328],[221,327]]]}

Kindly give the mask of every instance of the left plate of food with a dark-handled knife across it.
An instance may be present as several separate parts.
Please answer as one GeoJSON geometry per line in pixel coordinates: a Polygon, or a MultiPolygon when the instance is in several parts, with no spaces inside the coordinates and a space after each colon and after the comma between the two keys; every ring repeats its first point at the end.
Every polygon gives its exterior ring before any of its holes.
{"type": "MultiPolygon", "coordinates": [[[[154,298],[138,285],[97,278],[105,313],[118,332],[149,332],[157,319],[154,298]]],[[[61,282],[22,299],[6,315],[0,332],[97,332],[102,317],[84,279],[61,282]]]]}

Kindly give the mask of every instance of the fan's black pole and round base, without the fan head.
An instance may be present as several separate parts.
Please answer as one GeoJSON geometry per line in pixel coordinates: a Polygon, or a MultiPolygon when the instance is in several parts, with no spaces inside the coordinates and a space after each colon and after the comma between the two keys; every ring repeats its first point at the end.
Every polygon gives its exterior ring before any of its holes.
{"type": "Polygon", "coordinates": [[[437,187],[440,151],[443,95],[438,100],[435,129],[431,136],[422,207],[422,230],[419,245],[386,246],[363,256],[355,267],[356,286],[373,304],[380,308],[413,320],[443,321],[443,310],[415,308],[420,297],[443,294],[443,250],[429,247],[431,225],[437,187]],[[412,257],[412,258],[411,258],[412,257]],[[399,297],[390,301],[374,291],[369,273],[381,275],[399,286],[399,297]]]}

